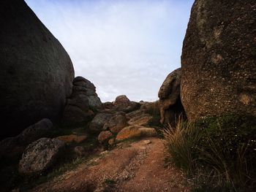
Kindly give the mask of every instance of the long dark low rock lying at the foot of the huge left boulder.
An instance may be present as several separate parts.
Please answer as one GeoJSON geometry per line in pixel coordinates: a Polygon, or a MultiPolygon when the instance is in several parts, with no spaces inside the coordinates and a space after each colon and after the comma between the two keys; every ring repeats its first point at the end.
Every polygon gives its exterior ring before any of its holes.
{"type": "Polygon", "coordinates": [[[39,120],[39,122],[24,129],[18,136],[2,140],[0,142],[0,159],[21,155],[27,145],[42,137],[49,137],[52,131],[53,123],[49,119],[39,120]]]}

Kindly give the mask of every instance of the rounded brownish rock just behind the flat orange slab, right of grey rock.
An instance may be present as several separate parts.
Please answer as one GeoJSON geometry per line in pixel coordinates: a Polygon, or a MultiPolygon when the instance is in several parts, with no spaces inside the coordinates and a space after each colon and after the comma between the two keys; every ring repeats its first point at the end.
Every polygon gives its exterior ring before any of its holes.
{"type": "Polygon", "coordinates": [[[110,130],[113,133],[118,133],[125,126],[127,126],[127,118],[125,117],[125,115],[117,114],[106,121],[103,129],[110,130]]]}

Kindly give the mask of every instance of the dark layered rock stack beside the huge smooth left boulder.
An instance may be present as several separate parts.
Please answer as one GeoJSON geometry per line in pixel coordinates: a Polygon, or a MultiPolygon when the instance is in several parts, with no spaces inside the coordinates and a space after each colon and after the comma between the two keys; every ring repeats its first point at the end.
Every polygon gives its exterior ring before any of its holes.
{"type": "Polygon", "coordinates": [[[63,122],[67,124],[80,124],[88,122],[96,109],[102,106],[96,88],[89,80],[75,77],[73,80],[72,95],[67,101],[64,110],[63,122]]]}

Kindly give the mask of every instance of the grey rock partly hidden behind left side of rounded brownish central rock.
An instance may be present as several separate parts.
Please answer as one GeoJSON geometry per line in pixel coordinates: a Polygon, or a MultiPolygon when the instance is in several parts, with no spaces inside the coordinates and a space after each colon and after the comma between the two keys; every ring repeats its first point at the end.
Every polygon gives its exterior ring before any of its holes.
{"type": "Polygon", "coordinates": [[[98,113],[89,125],[91,131],[102,131],[104,124],[113,117],[111,113],[98,113]]]}

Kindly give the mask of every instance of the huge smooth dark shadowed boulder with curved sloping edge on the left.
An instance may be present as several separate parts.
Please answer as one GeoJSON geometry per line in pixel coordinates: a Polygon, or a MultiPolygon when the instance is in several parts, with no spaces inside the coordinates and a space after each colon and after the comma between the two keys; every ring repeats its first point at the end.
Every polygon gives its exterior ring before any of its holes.
{"type": "Polygon", "coordinates": [[[0,1],[0,139],[61,116],[74,69],[58,39],[22,0],[0,1]]]}

